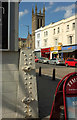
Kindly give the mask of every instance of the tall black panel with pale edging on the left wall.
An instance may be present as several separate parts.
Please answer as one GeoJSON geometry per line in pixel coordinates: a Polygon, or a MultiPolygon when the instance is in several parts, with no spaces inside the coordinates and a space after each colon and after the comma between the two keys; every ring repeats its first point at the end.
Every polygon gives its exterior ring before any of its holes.
{"type": "Polygon", "coordinates": [[[0,49],[9,49],[9,29],[10,29],[10,2],[0,2],[0,29],[2,37],[0,38],[0,49]]]}

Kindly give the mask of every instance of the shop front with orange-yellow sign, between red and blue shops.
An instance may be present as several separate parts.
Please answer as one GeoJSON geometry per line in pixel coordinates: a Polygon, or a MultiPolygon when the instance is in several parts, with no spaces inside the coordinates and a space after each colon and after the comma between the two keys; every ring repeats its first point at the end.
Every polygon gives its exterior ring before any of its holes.
{"type": "Polygon", "coordinates": [[[58,54],[58,51],[61,51],[61,46],[54,46],[54,47],[51,47],[50,48],[50,59],[53,59],[53,58],[60,58],[61,55],[58,54]]]}

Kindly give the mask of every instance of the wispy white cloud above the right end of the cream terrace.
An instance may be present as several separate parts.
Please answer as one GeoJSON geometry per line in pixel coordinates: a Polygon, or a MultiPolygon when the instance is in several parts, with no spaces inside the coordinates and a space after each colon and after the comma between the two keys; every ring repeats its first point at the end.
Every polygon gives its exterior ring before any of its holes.
{"type": "Polygon", "coordinates": [[[73,9],[75,9],[75,4],[72,4],[69,6],[58,7],[54,10],[54,12],[65,11],[64,18],[68,18],[74,14],[73,9]]]}

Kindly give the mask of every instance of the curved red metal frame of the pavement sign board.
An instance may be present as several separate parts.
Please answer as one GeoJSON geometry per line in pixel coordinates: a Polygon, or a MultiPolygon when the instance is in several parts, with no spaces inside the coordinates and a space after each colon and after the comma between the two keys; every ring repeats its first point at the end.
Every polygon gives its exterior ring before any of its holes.
{"type": "MultiPolygon", "coordinates": [[[[56,88],[56,92],[55,92],[55,98],[54,98],[54,101],[53,101],[53,104],[52,104],[52,109],[51,109],[51,114],[50,114],[50,120],[52,120],[52,114],[53,114],[53,111],[54,111],[54,106],[55,103],[56,103],[56,99],[57,99],[57,95],[61,95],[61,92],[63,92],[63,104],[64,104],[64,114],[65,114],[65,120],[67,120],[67,112],[66,112],[66,92],[67,92],[67,96],[68,96],[68,87],[66,87],[66,83],[69,79],[70,76],[76,74],[76,72],[73,72],[73,73],[69,73],[67,74],[66,76],[64,76],[60,82],[58,83],[57,85],[57,88],[56,88]],[[66,87],[66,88],[65,88],[66,87]],[[60,91],[61,90],[61,91],[60,91]],[[58,94],[59,93],[59,94],[58,94]]],[[[72,83],[71,83],[72,84],[72,83]]],[[[74,88],[74,86],[73,86],[74,88]]],[[[71,94],[69,92],[69,94],[71,94]]],[[[74,94],[74,92],[72,93],[74,94]]],[[[72,95],[71,95],[72,96],[72,95]]],[[[61,96],[59,96],[61,97],[61,96]]],[[[57,103],[58,104],[58,103],[57,103]]],[[[59,105],[60,106],[60,105],[59,105]]]]}

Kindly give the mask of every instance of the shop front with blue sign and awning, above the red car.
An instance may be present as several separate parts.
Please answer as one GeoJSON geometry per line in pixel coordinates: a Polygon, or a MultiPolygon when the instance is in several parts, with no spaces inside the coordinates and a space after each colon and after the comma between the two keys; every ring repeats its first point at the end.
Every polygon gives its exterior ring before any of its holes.
{"type": "Polygon", "coordinates": [[[62,51],[60,51],[59,54],[61,54],[63,60],[66,60],[67,58],[77,59],[77,45],[63,46],[62,51]]]}

